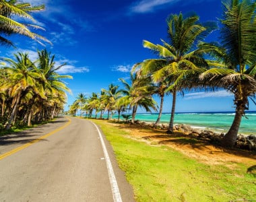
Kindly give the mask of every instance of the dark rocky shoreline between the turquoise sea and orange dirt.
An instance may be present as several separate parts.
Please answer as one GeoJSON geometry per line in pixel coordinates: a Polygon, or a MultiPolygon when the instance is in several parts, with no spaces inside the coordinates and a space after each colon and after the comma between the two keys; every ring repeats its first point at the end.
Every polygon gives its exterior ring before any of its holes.
{"type": "MultiPolygon", "coordinates": [[[[135,121],[136,124],[143,126],[149,126],[149,127],[155,127],[154,123],[146,123],[144,121],[135,121]]],[[[168,129],[168,124],[160,124],[157,127],[157,129],[161,130],[167,130],[168,129]]],[[[214,131],[210,131],[207,129],[198,129],[198,128],[193,128],[190,125],[174,125],[174,131],[175,132],[180,132],[180,133],[185,133],[187,135],[191,135],[197,139],[204,139],[206,141],[211,141],[216,144],[220,144],[222,138],[224,137],[224,133],[216,133],[214,131]]],[[[240,148],[240,149],[247,149],[247,150],[255,150],[256,151],[256,135],[238,135],[235,143],[235,147],[240,148]]]]}

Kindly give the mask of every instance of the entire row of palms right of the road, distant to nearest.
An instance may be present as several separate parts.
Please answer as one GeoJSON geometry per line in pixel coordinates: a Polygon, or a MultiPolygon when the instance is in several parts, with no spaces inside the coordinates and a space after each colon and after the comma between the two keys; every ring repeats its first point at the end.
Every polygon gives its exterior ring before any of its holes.
{"type": "MultiPolygon", "coordinates": [[[[255,98],[256,3],[253,0],[231,0],[222,4],[224,12],[220,20],[220,43],[203,42],[208,34],[217,29],[216,24],[200,24],[197,15],[183,18],[182,13],[172,14],[166,20],[168,42],[161,40],[162,44],[154,44],[143,40],[143,46],[159,58],[135,64],[131,71],[131,85],[120,79],[125,90],[117,90],[117,86],[110,85],[108,90],[102,90],[100,96],[92,96],[98,101],[91,97],[80,106],[80,110],[89,109],[90,114],[92,110],[108,110],[110,113],[116,110],[120,114],[122,110],[130,108],[133,123],[138,106],[146,110],[156,109],[152,95],[158,94],[161,102],[157,125],[164,96],[172,94],[168,133],[173,133],[178,92],[225,89],[234,94],[236,114],[222,145],[232,147],[242,116],[249,109],[249,98],[255,98]],[[91,99],[97,104],[92,105],[91,99]]],[[[71,109],[75,108],[75,103],[71,109]]]]}

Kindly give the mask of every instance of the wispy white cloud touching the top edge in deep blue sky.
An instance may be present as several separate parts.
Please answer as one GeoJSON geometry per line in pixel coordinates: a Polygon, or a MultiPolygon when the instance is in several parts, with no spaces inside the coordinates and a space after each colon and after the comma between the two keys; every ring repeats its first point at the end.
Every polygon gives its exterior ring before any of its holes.
{"type": "Polygon", "coordinates": [[[148,13],[154,11],[154,9],[159,9],[168,3],[174,3],[179,0],[141,0],[133,3],[130,7],[131,13],[148,13]]]}

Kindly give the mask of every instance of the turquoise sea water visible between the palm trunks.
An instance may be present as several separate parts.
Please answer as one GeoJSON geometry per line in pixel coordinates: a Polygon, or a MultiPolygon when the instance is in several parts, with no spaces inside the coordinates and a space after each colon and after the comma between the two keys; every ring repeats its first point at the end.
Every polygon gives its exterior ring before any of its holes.
{"type": "MultiPolygon", "coordinates": [[[[256,134],[256,111],[247,112],[247,118],[243,117],[239,133],[256,134]]],[[[154,123],[158,114],[136,114],[135,119],[154,123]]],[[[113,116],[117,119],[117,114],[113,116]]],[[[199,112],[199,113],[177,113],[174,116],[174,124],[187,124],[193,127],[214,129],[227,132],[234,119],[233,112],[199,112]]],[[[161,123],[169,123],[170,114],[162,114],[161,123]]]]}

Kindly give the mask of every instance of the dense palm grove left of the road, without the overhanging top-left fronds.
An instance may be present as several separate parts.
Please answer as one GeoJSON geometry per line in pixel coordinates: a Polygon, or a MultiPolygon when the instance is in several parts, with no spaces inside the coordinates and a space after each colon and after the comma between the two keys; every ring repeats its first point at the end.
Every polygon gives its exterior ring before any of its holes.
{"type": "Polygon", "coordinates": [[[55,56],[47,50],[38,51],[31,61],[28,53],[14,54],[15,59],[3,58],[0,68],[0,129],[53,119],[63,111],[65,92],[69,88],[59,75],[55,56]]]}

